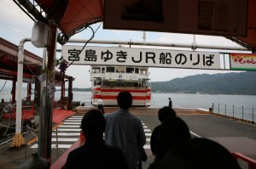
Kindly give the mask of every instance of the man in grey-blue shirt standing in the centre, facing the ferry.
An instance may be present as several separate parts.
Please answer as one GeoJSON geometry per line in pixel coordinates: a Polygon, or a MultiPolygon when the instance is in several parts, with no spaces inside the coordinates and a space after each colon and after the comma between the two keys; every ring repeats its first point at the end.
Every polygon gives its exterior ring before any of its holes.
{"type": "Polygon", "coordinates": [[[141,162],[140,148],[146,144],[146,135],[142,121],[129,112],[132,95],[120,92],[117,97],[119,110],[105,115],[107,127],[106,143],[123,150],[130,169],[137,169],[141,162]]]}

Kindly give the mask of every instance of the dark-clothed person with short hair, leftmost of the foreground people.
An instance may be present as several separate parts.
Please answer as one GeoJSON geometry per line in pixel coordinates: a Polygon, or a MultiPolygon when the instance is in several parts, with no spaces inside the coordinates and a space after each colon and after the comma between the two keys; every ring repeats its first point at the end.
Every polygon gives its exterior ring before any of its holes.
{"type": "Polygon", "coordinates": [[[78,149],[73,149],[68,156],[66,169],[128,169],[123,151],[105,144],[103,132],[106,129],[104,115],[98,110],[89,110],[81,122],[85,143],[78,149]]]}

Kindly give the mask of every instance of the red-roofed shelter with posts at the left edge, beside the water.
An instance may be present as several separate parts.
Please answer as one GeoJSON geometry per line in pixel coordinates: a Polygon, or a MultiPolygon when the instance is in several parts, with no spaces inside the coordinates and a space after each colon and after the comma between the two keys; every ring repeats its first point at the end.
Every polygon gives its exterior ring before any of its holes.
{"type": "MultiPolygon", "coordinates": [[[[18,60],[18,46],[6,41],[0,37],[0,79],[12,81],[12,99],[11,104],[15,104],[16,82],[17,82],[17,60],[18,60]]],[[[35,83],[35,104],[40,102],[40,82],[36,76],[42,74],[43,58],[24,50],[25,62],[23,66],[23,82],[27,83],[27,98],[26,101],[31,100],[32,82],[35,83]]],[[[61,98],[65,98],[65,82],[73,81],[71,76],[63,76],[59,71],[55,71],[55,85],[61,86],[61,98]]]]}

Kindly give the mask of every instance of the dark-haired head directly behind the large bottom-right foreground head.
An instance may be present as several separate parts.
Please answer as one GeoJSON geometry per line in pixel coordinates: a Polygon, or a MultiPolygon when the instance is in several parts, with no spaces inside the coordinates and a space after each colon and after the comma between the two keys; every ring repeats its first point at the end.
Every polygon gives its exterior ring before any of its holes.
{"type": "Polygon", "coordinates": [[[189,127],[177,116],[168,117],[160,127],[157,154],[159,158],[176,144],[191,139],[189,127]]]}

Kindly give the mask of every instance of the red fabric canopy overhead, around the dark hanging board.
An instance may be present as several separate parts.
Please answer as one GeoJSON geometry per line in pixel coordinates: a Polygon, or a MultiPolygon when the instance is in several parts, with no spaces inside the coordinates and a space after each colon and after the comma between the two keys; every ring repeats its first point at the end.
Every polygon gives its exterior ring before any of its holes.
{"type": "MultiPolygon", "coordinates": [[[[72,37],[75,33],[82,31],[86,26],[102,21],[104,19],[104,6],[103,0],[33,0],[30,3],[29,0],[15,0],[18,5],[22,5],[22,8],[26,8],[29,11],[28,6],[33,5],[32,3],[38,3],[38,6],[44,10],[45,16],[37,17],[37,12],[29,12],[30,15],[36,20],[45,21],[51,20],[61,30],[61,34],[58,36],[58,42],[64,44],[67,40],[72,37]],[[28,5],[28,3],[30,3],[28,5]]],[[[115,0],[116,1],[116,0],[115,0]]],[[[119,0],[121,1],[121,0],[119,0]]],[[[162,0],[165,1],[165,0],[162,0]]],[[[212,0],[216,1],[216,0],[212,0]]],[[[113,2],[113,0],[108,0],[113,2]]],[[[122,0],[123,3],[127,3],[127,0],[122,0]]],[[[147,2],[154,4],[154,0],[134,0],[133,2],[147,2]]],[[[186,1],[179,1],[186,2],[186,1]]],[[[196,3],[197,1],[195,1],[196,3]]],[[[247,33],[245,37],[232,37],[224,36],[228,39],[241,44],[243,47],[248,48],[253,53],[256,52],[256,1],[255,0],[242,0],[242,3],[247,2],[247,33]],[[244,1],[244,2],[243,2],[244,1]]],[[[106,1],[107,3],[107,1],[106,1]]],[[[198,2],[197,2],[198,3],[198,2]]],[[[150,5],[149,5],[150,6],[150,5]]],[[[106,8],[106,7],[105,7],[106,8]]],[[[113,5],[113,10],[115,6],[113,5]]],[[[34,8],[33,8],[34,9],[34,8]]],[[[134,8],[133,8],[134,9],[134,8]]],[[[107,10],[107,9],[106,9],[107,10]]],[[[135,14],[138,12],[137,8],[133,10],[135,14]]],[[[42,12],[39,12],[42,14],[42,12]]],[[[140,12],[138,12],[140,14],[140,12]]],[[[106,16],[105,16],[106,17],[106,16]]],[[[135,20],[137,17],[135,17],[135,20]]],[[[108,19],[109,20],[109,19],[108,19]]],[[[132,19],[131,19],[132,20],[132,19]]],[[[104,24],[104,23],[103,23],[104,24]]],[[[154,25],[148,27],[148,30],[143,31],[158,31],[154,30],[154,25]]],[[[121,29],[129,30],[129,28],[123,27],[121,29]]],[[[180,32],[183,33],[183,32],[180,32]]],[[[206,34],[207,35],[207,34],[206,34]]],[[[211,34],[209,34],[211,35],[211,34]]]]}

